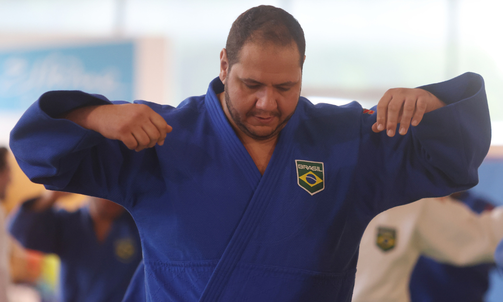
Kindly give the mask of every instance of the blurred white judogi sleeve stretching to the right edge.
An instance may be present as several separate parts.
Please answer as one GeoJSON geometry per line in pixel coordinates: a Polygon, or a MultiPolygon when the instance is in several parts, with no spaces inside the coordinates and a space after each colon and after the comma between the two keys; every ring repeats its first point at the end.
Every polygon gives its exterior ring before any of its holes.
{"type": "Polygon", "coordinates": [[[503,239],[503,207],[477,214],[450,198],[426,199],[414,238],[423,255],[440,262],[492,262],[503,239]]]}

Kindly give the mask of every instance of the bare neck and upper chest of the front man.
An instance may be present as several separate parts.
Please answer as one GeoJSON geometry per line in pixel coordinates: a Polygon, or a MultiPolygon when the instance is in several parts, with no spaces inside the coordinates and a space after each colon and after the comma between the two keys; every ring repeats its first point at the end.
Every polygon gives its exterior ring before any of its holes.
{"type": "Polygon", "coordinates": [[[267,165],[269,164],[269,161],[273,156],[274,148],[276,147],[276,143],[278,142],[279,135],[276,134],[273,137],[263,140],[255,139],[253,137],[246,135],[246,133],[244,133],[241,129],[239,129],[239,127],[234,123],[234,120],[230,116],[227,104],[225,103],[224,93],[223,92],[220,93],[218,95],[218,98],[220,100],[220,105],[222,105],[222,109],[225,113],[225,116],[227,117],[227,120],[232,126],[232,129],[234,129],[234,132],[236,133],[237,137],[248,151],[248,154],[250,155],[251,159],[254,161],[255,165],[259,169],[260,174],[264,175],[264,172],[266,172],[267,165]]]}

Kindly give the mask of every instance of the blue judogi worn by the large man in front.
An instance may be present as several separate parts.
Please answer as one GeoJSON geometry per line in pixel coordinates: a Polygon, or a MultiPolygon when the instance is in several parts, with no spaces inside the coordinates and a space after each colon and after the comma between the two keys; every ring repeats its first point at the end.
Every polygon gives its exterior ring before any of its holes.
{"type": "Polygon", "coordinates": [[[58,119],[111,102],[55,91],[23,115],[11,149],[32,181],[128,209],[147,301],[349,301],[360,239],[377,213],[478,182],[490,144],[482,78],[422,88],[448,106],[395,137],[372,132],[376,115],[356,102],[301,97],[263,176],[221,108],[218,78],[178,108],[136,101],[173,126],[162,146],[136,153],[58,119]]]}

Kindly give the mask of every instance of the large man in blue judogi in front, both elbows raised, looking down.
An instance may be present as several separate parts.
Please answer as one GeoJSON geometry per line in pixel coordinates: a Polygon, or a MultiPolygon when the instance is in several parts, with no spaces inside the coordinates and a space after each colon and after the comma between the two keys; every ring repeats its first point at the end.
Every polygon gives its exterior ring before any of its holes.
{"type": "Polygon", "coordinates": [[[390,90],[376,113],[314,106],[299,98],[304,50],[290,14],[250,9],[205,96],[173,108],[49,92],[11,148],[32,181],[131,212],[147,300],[350,300],[377,213],[477,183],[487,102],[467,73],[390,90]]]}

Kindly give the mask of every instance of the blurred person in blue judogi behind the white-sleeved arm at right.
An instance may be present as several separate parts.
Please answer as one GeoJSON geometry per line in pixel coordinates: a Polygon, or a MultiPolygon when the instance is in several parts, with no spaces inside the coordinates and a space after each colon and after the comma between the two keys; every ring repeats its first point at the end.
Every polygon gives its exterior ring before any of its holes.
{"type": "MultiPolygon", "coordinates": [[[[494,205],[469,191],[451,195],[475,213],[490,211],[494,205]]],[[[410,277],[412,302],[478,302],[489,287],[493,263],[455,266],[421,256],[410,277]]]]}

